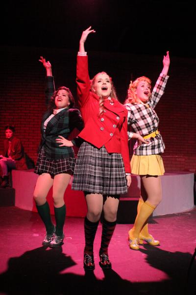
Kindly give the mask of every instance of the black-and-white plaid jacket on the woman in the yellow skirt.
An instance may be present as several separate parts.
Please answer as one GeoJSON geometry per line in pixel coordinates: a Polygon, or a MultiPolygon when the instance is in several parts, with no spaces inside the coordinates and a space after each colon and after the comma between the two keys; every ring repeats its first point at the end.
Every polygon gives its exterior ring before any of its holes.
{"type": "MultiPolygon", "coordinates": [[[[164,94],[166,83],[169,76],[160,74],[155,87],[152,90],[151,97],[147,105],[143,104],[125,104],[128,110],[128,125],[131,125],[133,132],[139,133],[141,136],[150,134],[158,129],[159,118],[157,117],[154,108],[164,94]]],[[[128,138],[132,137],[132,132],[128,131],[128,138]]],[[[154,138],[149,139],[148,144],[141,146],[135,145],[134,154],[136,155],[151,155],[164,152],[165,144],[162,136],[158,134],[154,138]]]]}

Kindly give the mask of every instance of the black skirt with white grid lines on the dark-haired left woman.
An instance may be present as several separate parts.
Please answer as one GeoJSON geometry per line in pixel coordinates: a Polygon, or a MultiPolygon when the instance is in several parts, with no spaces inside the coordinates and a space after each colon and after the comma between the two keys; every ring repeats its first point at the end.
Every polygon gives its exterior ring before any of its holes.
{"type": "Polygon", "coordinates": [[[75,166],[75,158],[63,158],[59,160],[47,159],[44,147],[41,148],[34,173],[42,174],[49,173],[52,177],[61,173],[68,173],[73,175],[75,166]]]}

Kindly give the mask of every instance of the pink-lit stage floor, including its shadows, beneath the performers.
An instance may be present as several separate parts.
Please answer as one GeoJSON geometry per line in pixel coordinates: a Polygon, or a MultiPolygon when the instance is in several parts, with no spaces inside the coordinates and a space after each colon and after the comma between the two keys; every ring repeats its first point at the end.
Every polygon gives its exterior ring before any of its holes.
{"type": "MultiPolygon", "coordinates": [[[[54,216],[52,216],[52,219],[54,216]]],[[[0,294],[2,295],[175,295],[194,294],[196,208],[153,217],[150,233],[161,241],[139,251],[129,249],[130,224],[117,224],[109,246],[112,270],[98,265],[101,224],[95,238],[94,272],[83,269],[83,218],[67,217],[65,243],[58,249],[42,246],[44,226],[36,212],[0,207],[0,294]]],[[[196,290],[196,289],[195,289],[196,290]]]]}

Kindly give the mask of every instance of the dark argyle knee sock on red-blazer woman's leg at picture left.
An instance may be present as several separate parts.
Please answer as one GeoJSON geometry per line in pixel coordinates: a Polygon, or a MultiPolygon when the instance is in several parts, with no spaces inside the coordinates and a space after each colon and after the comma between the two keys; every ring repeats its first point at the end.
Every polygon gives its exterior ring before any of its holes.
{"type": "Polygon", "coordinates": [[[84,234],[85,234],[85,248],[84,253],[88,253],[89,255],[93,255],[93,243],[95,239],[95,235],[98,229],[97,222],[91,222],[85,217],[84,219],[84,234]]]}

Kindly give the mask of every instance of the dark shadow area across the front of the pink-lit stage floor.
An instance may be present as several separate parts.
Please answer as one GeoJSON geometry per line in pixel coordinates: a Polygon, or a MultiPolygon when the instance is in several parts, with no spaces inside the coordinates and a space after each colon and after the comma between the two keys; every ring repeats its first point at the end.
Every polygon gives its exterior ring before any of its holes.
{"type": "MultiPolygon", "coordinates": [[[[148,264],[167,273],[170,279],[161,282],[132,283],[122,279],[114,270],[105,270],[103,280],[98,280],[94,272],[87,272],[84,276],[72,272],[63,274],[61,271],[75,265],[72,258],[62,253],[61,247],[40,247],[27,251],[20,257],[9,259],[8,269],[0,274],[0,292],[7,295],[194,294],[191,293],[191,288],[196,288],[195,260],[189,281],[186,271],[192,258],[190,253],[167,252],[148,245],[140,251],[147,255],[148,264]]],[[[130,272],[137,269],[134,267],[134,261],[127,267],[130,268],[130,272]]]]}

